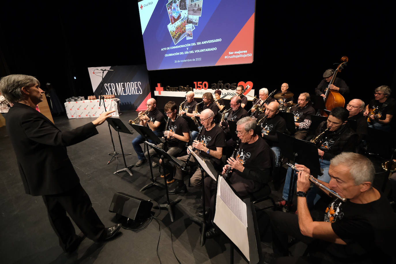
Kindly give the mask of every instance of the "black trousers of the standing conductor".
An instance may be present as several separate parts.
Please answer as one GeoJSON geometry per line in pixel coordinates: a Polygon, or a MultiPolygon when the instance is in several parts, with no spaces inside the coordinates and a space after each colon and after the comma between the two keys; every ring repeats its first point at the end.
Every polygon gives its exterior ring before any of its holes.
{"type": "Polygon", "coordinates": [[[79,183],[67,192],[44,195],[49,222],[57,236],[59,245],[67,252],[76,240],[76,231],[66,215],[68,213],[80,230],[93,241],[104,234],[105,226],[92,208],[88,194],[79,183]]]}

